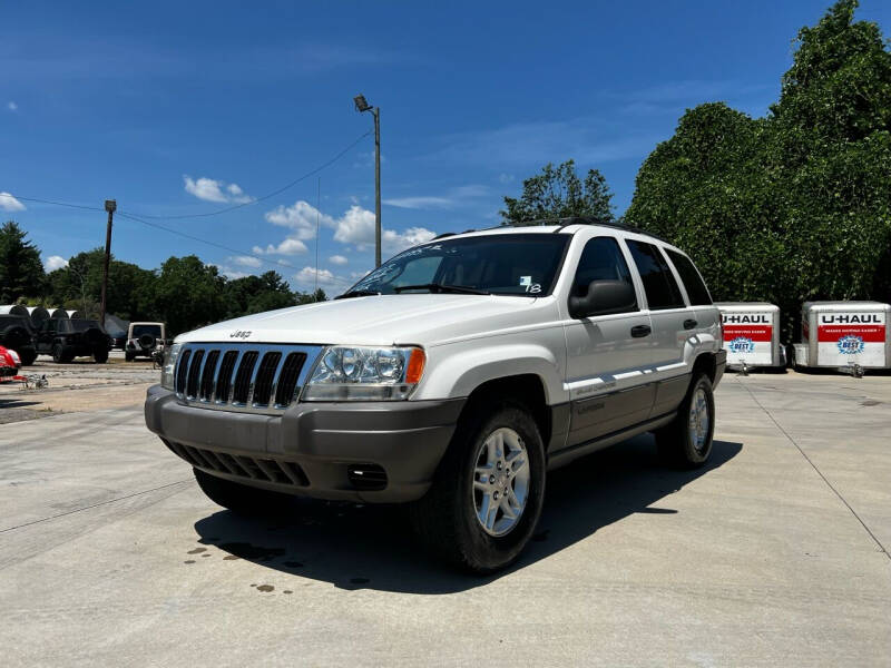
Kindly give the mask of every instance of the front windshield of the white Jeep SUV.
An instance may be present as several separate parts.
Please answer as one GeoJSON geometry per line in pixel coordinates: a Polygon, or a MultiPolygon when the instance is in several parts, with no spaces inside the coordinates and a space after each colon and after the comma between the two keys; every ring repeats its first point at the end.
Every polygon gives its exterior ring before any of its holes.
{"type": "Polygon", "coordinates": [[[439,239],[396,255],[345,294],[438,292],[435,286],[442,285],[498,295],[544,296],[554,287],[568,240],[564,234],[439,239]]]}

